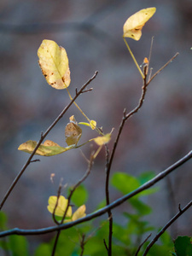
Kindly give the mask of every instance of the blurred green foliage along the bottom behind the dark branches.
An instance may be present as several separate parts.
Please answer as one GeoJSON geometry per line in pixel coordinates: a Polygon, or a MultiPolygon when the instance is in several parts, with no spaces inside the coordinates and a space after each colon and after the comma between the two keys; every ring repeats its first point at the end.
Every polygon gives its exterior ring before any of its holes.
{"type": "MultiPolygon", "coordinates": [[[[136,189],[138,186],[143,184],[146,180],[153,177],[152,172],[145,172],[140,177],[133,177],[123,172],[116,172],[111,178],[111,184],[113,188],[117,189],[123,195],[129,193],[132,189],[136,189]],[[127,181],[130,181],[130,186],[127,186],[127,181]],[[119,183],[121,186],[119,186],[119,183]]],[[[143,220],[143,217],[152,212],[152,208],[147,204],[143,203],[142,197],[155,193],[157,189],[148,189],[141,195],[137,195],[137,198],[131,203],[133,208],[132,213],[124,212],[125,218],[124,224],[113,223],[113,254],[114,255],[135,255],[137,253],[137,247],[140,245],[143,238],[148,236],[148,232],[155,231],[155,228],[151,226],[147,221],[143,220]]],[[[75,205],[83,205],[88,200],[88,192],[84,188],[84,185],[79,186],[73,194],[72,201],[75,205]]],[[[99,207],[101,207],[101,204],[99,207]]],[[[71,211],[71,210],[70,210],[71,211]]],[[[50,209],[52,212],[52,209],[50,209]]],[[[60,212],[59,214],[60,215],[60,212]]],[[[69,213],[71,216],[71,213],[69,213]]],[[[7,230],[7,218],[3,212],[0,212],[0,228],[1,230],[7,230]]],[[[81,224],[79,228],[72,228],[65,230],[61,233],[60,240],[57,245],[58,255],[79,255],[80,254],[80,238],[84,234],[90,234],[85,237],[84,255],[106,255],[103,239],[108,237],[108,225],[106,221],[100,223],[100,227],[96,229],[94,223],[81,224]],[[92,230],[95,230],[94,232],[92,230]]],[[[160,244],[155,244],[151,248],[149,256],[161,256],[161,255],[172,255],[172,256],[189,256],[192,255],[192,239],[189,236],[178,236],[175,241],[172,241],[168,233],[164,233],[160,236],[160,244]]],[[[54,244],[54,240],[49,243],[42,243],[36,249],[34,255],[50,255],[54,244]]],[[[143,255],[143,251],[146,245],[137,255],[143,255]]],[[[0,247],[3,251],[11,252],[13,256],[19,255],[31,255],[29,253],[28,241],[24,236],[9,236],[4,241],[0,241],[0,247]]],[[[0,250],[1,252],[1,250],[0,250]]]]}

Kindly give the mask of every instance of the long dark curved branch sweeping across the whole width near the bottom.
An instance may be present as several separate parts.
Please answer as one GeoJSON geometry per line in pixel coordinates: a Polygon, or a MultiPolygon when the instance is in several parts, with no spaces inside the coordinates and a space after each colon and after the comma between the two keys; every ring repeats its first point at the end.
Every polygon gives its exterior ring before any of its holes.
{"type": "Polygon", "coordinates": [[[183,164],[185,162],[189,161],[191,158],[192,158],[192,150],[189,151],[188,154],[184,155],[183,158],[178,160],[172,166],[169,166],[165,171],[160,172],[157,176],[150,179],[147,183],[144,183],[138,189],[135,189],[131,193],[120,197],[118,200],[113,201],[108,206],[103,207],[102,209],[99,209],[96,212],[92,212],[92,213],[86,215],[84,218],[79,218],[79,219],[77,219],[73,222],[67,223],[67,224],[60,224],[59,226],[52,226],[52,227],[38,229],[38,230],[21,230],[21,229],[15,228],[13,230],[7,230],[7,231],[0,232],[0,237],[10,236],[10,235],[22,235],[22,236],[43,235],[43,234],[47,234],[50,232],[54,232],[56,230],[67,230],[77,224],[81,224],[81,223],[89,221],[90,219],[96,218],[98,216],[102,216],[104,213],[108,212],[109,209],[118,207],[123,202],[125,202],[128,199],[132,198],[133,196],[141,193],[143,190],[151,188],[155,183],[158,183],[161,179],[163,179],[168,174],[170,174],[171,172],[176,170],[179,166],[183,166],[183,164]]]}

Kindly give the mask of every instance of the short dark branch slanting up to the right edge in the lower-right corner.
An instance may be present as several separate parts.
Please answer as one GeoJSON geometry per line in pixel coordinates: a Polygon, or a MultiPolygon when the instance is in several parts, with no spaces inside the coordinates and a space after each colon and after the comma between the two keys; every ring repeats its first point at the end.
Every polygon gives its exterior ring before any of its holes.
{"type": "Polygon", "coordinates": [[[184,212],[186,212],[191,206],[192,206],[192,201],[190,201],[185,207],[183,207],[183,209],[179,207],[179,212],[177,212],[177,214],[169,222],[167,222],[167,224],[160,230],[160,232],[156,236],[154,236],[154,239],[150,241],[150,243],[148,244],[147,248],[143,253],[143,256],[147,255],[149,249],[153,247],[154,243],[158,241],[160,236],[163,235],[163,233],[171,226],[171,224],[175,222],[177,218],[180,217],[184,212]]]}

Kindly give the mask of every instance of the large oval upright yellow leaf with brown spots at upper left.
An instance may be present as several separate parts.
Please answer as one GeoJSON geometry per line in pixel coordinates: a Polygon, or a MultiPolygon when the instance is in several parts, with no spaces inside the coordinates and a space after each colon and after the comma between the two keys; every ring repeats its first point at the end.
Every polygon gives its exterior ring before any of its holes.
{"type": "Polygon", "coordinates": [[[55,89],[69,86],[70,70],[67,52],[51,40],[44,40],[38,49],[39,66],[48,84],[55,89]]]}

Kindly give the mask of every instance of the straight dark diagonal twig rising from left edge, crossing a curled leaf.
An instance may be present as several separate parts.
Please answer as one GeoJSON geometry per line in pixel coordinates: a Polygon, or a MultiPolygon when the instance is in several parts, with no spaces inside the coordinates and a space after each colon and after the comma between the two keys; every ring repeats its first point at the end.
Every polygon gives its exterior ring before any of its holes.
{"type": "Polygon", "coordinates": [[[89,79],[79,90],[78,94],[76,94],[76,96],[73,97],[73,100],[67,105],[66,108],[64,108],[61,113],[58,115],[58,117],[55,119],[55,121],[52,123],[52,125],[49,126],[49,128],[47,129],[47,131],[45,131],[44,133],[41,134],[41,137],[36,145],[36,147],[34,148],[34,150],[32,151],[32,154],[30,155],[30,157],[28,158],[28,160],[26,161],[26,164],[22,167],[22,169],[20,170],[20,172],[18,173],[18,175],[15,177],[15,180],[13,181],[13,183],[10,185],[8,191],[6,192],[6,194],[3,197],[3,201],[1,202],[0,205],[0,211],[5,203],[5,201],[8,199],[11,191],[15,188],[16,183],[18,183],[21,175],[23,174],[23,172],[25,172],[26,167],[30,165],[31,160],[33,155],[36,153],[38,147],[40,146],[40,144],[44,141],[44,138],[49,134],[49,131],[51,131],[53,129],[53,127],[59,122],[59,120],[63,117],[63,115],[67,112],[68,108],[70,108],[73,104],[73,102],[84,92],[84,89],[86,88],[86,86],[88,84],[90,84],[90,82],[96,78],[97,75],[97,71],[96,73],[93,75],[93,77],[91,79],[89,79]]]}

